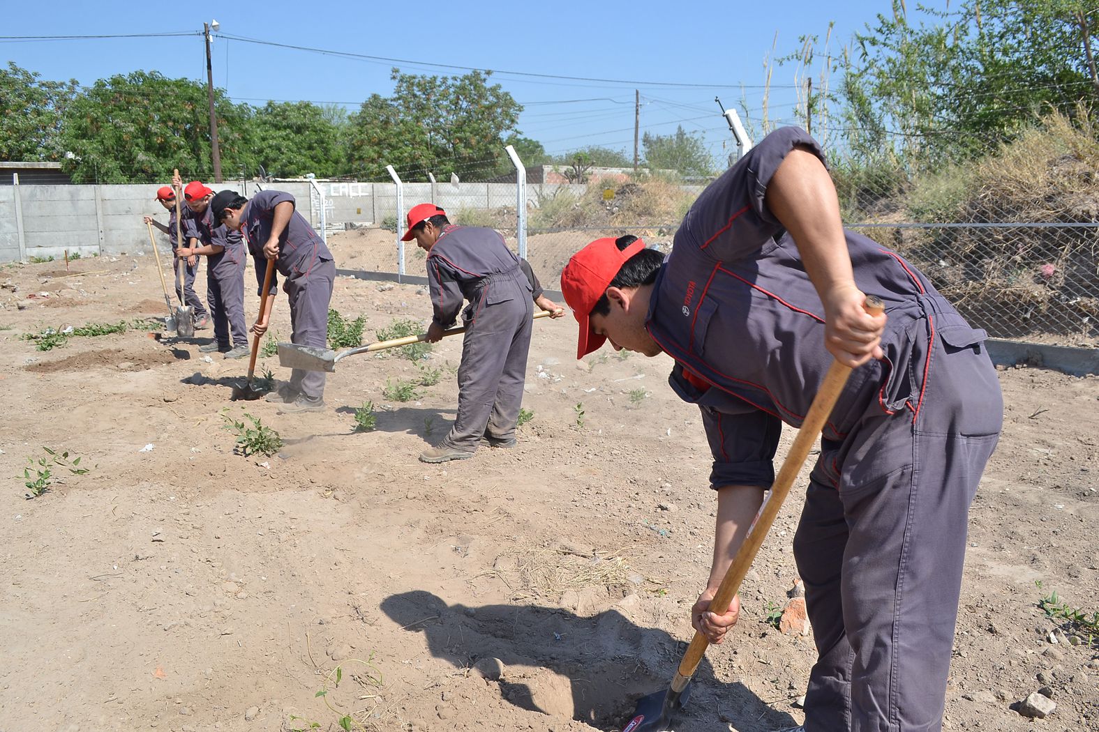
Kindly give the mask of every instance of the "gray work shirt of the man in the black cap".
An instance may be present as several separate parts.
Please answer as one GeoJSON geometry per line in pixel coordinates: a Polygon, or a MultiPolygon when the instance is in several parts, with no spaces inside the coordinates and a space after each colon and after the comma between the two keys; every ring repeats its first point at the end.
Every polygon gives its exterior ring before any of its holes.
{"type": "MultiPolygon", "coordinates": [[[[264,245],[270,238],[271,223],[275,218],[275,206],[282,202],[295,205],[290,221],[278,238],[278,259],[276,269],[285,278],[309,277],[309,272],[322,261],[333,261],[332,252],[324,241],[313,230],[297,211],[293,196],[285,191],[259,191],[244,205],[244,222],[241,233],[248,246],[248,251],[256,264],[258,286],[264,286],[264,275],[267,273],[267,258],[264,256],[264,245]]],[[[271,292],[278,284],[278,275],[271,277],[271,292]]]]}

